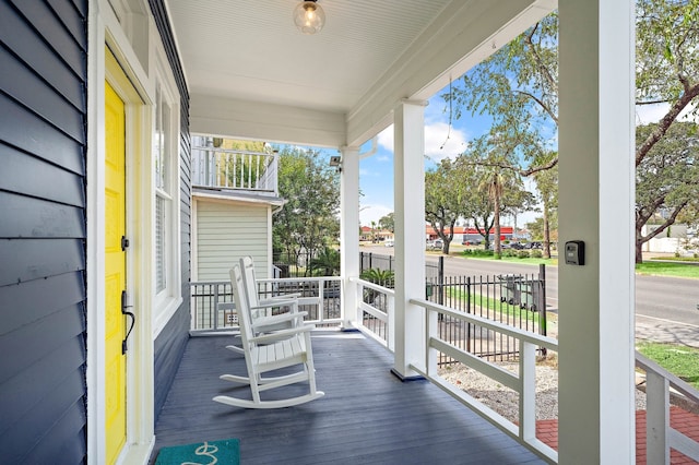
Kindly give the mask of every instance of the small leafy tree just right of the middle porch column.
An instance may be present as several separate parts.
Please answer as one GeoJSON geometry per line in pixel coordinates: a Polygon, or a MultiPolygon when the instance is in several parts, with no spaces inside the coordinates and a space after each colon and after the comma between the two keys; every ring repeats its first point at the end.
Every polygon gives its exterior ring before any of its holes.
{"type": "Polygon", "coordinates": [[[443,158],[436,169],[425,172],[425,219],[442,240],[445,254],[449,254],[457,219],[465,213],[465,188],[459,169],[449,158],[443,158]]]}

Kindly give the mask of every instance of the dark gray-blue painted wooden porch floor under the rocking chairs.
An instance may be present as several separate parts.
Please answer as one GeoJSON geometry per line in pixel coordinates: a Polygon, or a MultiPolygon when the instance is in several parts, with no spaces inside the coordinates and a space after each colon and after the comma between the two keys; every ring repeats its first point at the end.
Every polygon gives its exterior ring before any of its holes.
{"type": "Polygon", "coordinates": [[[250,398],[249,388],[218,379],[245,373],[242,356],[224,347],[232,339],[189,339],[155,428],[152,462],[163,446],[238,438],[241,463],[256,465],[544,463],[431,383],[401,382],[390,372],[391,355],[360,333],[313,333],[325,392],[318,401],[273,410],[215,403],[220,394],[250,398]]]}

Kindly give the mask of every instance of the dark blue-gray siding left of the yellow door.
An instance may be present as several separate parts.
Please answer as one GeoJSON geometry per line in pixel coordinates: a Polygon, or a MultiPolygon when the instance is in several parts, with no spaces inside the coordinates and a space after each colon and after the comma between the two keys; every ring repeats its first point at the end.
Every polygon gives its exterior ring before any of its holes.
{"type": "Polygon", "coordinates": [[[83,463],[86,0],[0,1],[0,451],[83,463]]]}

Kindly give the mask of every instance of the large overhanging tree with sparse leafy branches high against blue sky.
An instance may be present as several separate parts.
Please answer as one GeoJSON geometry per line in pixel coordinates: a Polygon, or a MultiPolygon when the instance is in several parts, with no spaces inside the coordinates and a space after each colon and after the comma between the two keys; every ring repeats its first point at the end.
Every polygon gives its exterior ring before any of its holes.
{"type": "MultiPolygon", "coordinates": [[[[666,108],[653,131],[637,141],[636,166],[643,168],[643,159],[679,115],[699,112],[699,1],[639,0],[636,5],[636,105],[666,108]]],[[[542,157],[558,126],[557,36],[558,15],[552,13],[476,65],[445,95],[457,104],[457,118],[464,111],[488,115],[495,130],[518,121],[532,140],[538,140],[540,151],[532,150],[510,165],[522,176],[558,163],[558,156],[542,157]]],[[[637,249],[641,241],[637,237],[637,249]]]]}

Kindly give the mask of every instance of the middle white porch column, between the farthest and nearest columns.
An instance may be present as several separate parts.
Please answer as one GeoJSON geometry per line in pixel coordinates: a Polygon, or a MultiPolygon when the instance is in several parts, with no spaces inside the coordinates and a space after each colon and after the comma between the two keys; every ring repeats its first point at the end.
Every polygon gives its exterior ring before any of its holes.
{"type": "Polygon", "coordinates": [[[408,303],[425,298],[425,102],[394,110],[395,365],[402,379],[425,366],[425,311],[408,303]]]}

